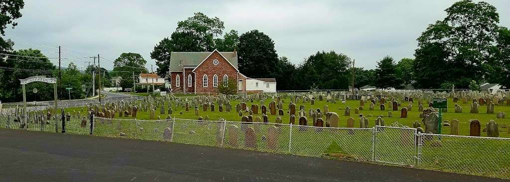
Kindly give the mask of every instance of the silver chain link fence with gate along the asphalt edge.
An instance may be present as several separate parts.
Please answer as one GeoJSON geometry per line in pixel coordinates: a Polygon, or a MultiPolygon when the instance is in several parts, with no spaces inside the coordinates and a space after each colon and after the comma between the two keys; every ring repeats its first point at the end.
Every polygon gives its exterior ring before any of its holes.
{"type": "Polygon", "coordinates": [[[19,122],[15,116],[0,115],[0,127],[48,132],[65,129],[67,133],[337,157],[510,179],[510,139],[505,138],[426,134],[405,127],[327,128],[176,118],[91,120],[89,116],[66,116],[62,125],[61,118],[43,119],[41,124],[37,119],[19,122]]]}

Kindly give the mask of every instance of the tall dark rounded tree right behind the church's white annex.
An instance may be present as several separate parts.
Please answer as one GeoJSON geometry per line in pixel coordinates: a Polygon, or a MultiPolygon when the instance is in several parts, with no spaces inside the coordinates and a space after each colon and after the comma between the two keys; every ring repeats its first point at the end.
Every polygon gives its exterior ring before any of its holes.
{"type": "MultiPolygon", "coordinates": [[[[278,63],[273,40],[258,30],[239,37],[239,71],[251,78],[272,78],[278,63]]],[[[276,80],[278,82],[278,80],[276,80]]]]}

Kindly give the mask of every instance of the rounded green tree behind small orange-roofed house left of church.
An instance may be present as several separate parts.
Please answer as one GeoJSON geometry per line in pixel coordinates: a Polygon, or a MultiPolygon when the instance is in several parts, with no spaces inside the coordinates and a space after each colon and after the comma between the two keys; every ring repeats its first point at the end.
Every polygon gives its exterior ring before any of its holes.
{"type": "Polygon", "coordinates": [[[145,64],[147,61],[143,59],[142,55],[138,53],[122,53],[113,61],[114,76],[122,77],[120,86],[124,88],[133,87],[133,73],[138,75],[140,73],[147,73],[145,64]]]}

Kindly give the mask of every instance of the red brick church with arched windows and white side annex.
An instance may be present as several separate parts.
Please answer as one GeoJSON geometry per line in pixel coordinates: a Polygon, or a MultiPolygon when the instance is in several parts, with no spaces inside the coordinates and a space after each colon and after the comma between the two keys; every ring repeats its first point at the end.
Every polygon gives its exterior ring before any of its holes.
{"type": "Polygon", "coordinates": [[[171,52],[170,89],[173,93],[216,93],[218,84],[234,78],[238,93],[276,92],[275,79],[254,79],[241,74],[237,58],[236,51],[171,52]]]}

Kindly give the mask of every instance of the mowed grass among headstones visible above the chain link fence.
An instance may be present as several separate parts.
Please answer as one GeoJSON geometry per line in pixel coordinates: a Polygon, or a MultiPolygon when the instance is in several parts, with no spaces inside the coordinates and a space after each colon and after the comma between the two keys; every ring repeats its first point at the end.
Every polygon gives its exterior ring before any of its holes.
{"type": "MultiPolygon", "coordinates": [[[[287,99],[283,99],[283,100],[284,100],[284,104],[283,104],[284,116],[281,116],[281,117],[282,117],[282,121],[284,124],[289,124],[290,115],[288,113],[288,111],[289,111],[288,107],[289,107],[290,99],[287,98],[287,99]]],[[[266,113],[268,114],[269,122],[274,123],[277,115],[270,115],[269,106],[268,106],[270,101],[271,100],[268,99],[264,102],[264,104],[266,105],[266,107],[268,107],[268,111],[266,113]]],[[[231,101],[231,104],[232,104],[231,112],[226,112],[226,111],[219,112],[218,104],[215,104],[214,112],[211,111],[210,108],[208,109],[208,111],[203,111],[202,106],[200,105],[200,106],[198,106],[199,116],[201,116],[202,118],[209,116],[210,121],[218,121],[221,118],[225,119],[226,121],[241,121],[241,117],[239,117],[239,113],[236,112],[236,104],[238,104],[238,103],[240,103],[240,101],[231,101]]],[[[255,118],[255,117],[262,118],[262,109],[260,106],[260,101],[255,100],[253,103],[247,102],[246,106],[250,107],[251,104],[259,104],[259,113],[258,113],[258,115],[256,115],[256,114],[252,115],[253,118],[255,118]]],[[[360,110],[360,113],[363,114],[363,116],[368,118],[370,127],[373,127],[375,125],[375,119],[379,115],[382,115],[384,117],[383,119],[385,120],[385,124],[387,126],[390,126],[390,125],[392,125],[392,123],[395,123],[395,122],[398,122],[399,124],[402,124],[402,125],[408,126],[408,127],[413,127],[413,123],[415,121],[419,121],[421,123],[421,121],[422,121],[422,118],[420,118],[421,112],[418,111],[418,103],[417,102],[415,102],[413,104],[413,108],[411,109],[411,111],[408,112],[407,118],[400,118],[400,109],[402,107],[399,107],[398,111],[393,111],[392,108],[388,108],[388,104],[390,104],[390,102],[386,102],[386,104],[385,104],[386,110],[380,110],[379,104],[375,104],[374,110],[369,110],[369,103],[365,103],[364,110],[360,110]],[[392,112],[393,117],[391,117],[391,118],[388,117],[388,111],[392,112]]],[[[424,104],[426,104],[426,102],[424,102],[424,104]]],[[[167,106],[168,104],[165,104],[165,105],[167,106]]],[[[312,125],[312,121],[311,121],[312,119],[310,116],[308,116],[309,109],[313,108],[315,110],[315,109],[319,108],[323,111],[324,105],[327,105],[330,112],[338,113],[338,115],[340,117],[339,118],[339,127],[346,127],[347,119],[350,117],[352,117],[355,121],[354,127],[360,127],[359,114],[354,113],[354,109],[360,107],[359,100],[347,100],[345,104],[342,104],[341,101],[334,104],[334,103],[326,102],[325,100],[324,101],[317,100],[317,101],[315,101],[314,105],[311,105],[310,102],[307,102],[307,103],[298,102],[298,103],[296,103],[296,115],[298,115],[297,112],[298,112],[300,105],[305,106],[304,110],[307,113],[307,118],[309,120],[308,125],[312,125]],[[351,107],[351,115],[350,116],[344,116],[344,108],[346,106],[351,107]]],[[[407,106],[407,103],[402,103],[401,105],[407,106]]],[[[426,108],[426,107],[424,107],[424,108],[426,108]]],[[[185,111],[185,108],[183,105],[180,107],[176,107],[175,103],[172,102],[172,109],[174,111],[173,111],[171,117],[180,118],[180,119],[192,119],[192,120],[198,119],[198,116],[195,116],[195,111],[194,111],[193,106],[190,107],[189,111],[185,111]],[[181,111],[183,112],[182,115],[180,115],[181,111]]],[[[469,113],[470,102],[468,102],[467,104],[463,104],[462,101],[453,103],[452,99],[448,99],[448,112],[443,112],[443,121],[451,121],[452,119],[457,119],[459,121],[459,125],[460,125],[459,126],[460,127],[460,135],[469,135],[469,127],[470,127],[469,120],[471,120],[471,119],[479,120],[480,124],[481,124],[481,128],[484,128],[485,125],[490,120],[494,120],[495,122],[497,122],[499,124],[500,138],[510,138],[510,133],[508,133],[508,128],[502,128],[503,125],[507,125],[507,126],[510,125],[510,119],[496,119],[496,113],[499,111],[510,113],[510,106],[495,105],[494,106],[494,114],[487,114],[486,109],[487,109],[487,105],[481,105],[479,107],[479,113],[469,113]],[[461,105],[461,107],[463,108],[462,113],[454,112],[455,104],[461,105]]],[[[72,111],[72,110],[78,111],[78,110],[81,110],[81,108],[67,108],[66,109],[66,111],[72,111]]],[[[86,110],[86,109],[84,108],[83,110],[86,110]]],[[[226,110],[226,109],[224,108],[223,110],[226,110]]],[[[248,112],[243,112],[243,115],[247,116],[248,112]]],[[[160,116],[161,119],[165,119],[168,116],[167,108],[165,108],[164,115],[160,114],[160,109],[156,109],[156,119],[158,116],[160,116]]],[[[115,117],[118,118],[118,114],[115,117]]],[[[131,119],[131,117],[129,117],[129,118],[131,119]]],[[[123,117],[123,119],[126,119],[126,118],[123,117]]],[[[150,120],[150,112],[148,112],[148,111],[144,112],[142,109],[139,109],[136,119],[150,120]]],[[[325,120],[325,116],[323,116],[323,119],[325,120]]],[[[296,124],[298,123],[298,120],[299,120],[299,118],[298,118],[298,116],[296,116],[296,124]]],[[[425,128],[423,123],[421,124],[421,127],[425,128]]],[[[450,134],[450,127],[448,127],[448,126],[442,127],[441,134],[450,134]]],[[[481,136],[486,137],[487,133],[482,132],[481,136]]]]}

